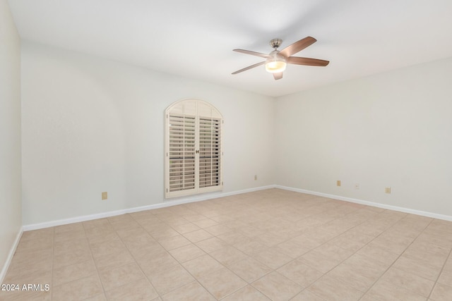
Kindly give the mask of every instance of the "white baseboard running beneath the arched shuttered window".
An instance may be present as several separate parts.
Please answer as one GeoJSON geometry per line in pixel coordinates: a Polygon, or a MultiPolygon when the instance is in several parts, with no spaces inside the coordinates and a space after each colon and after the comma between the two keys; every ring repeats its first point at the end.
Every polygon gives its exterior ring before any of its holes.
{"type": "Polygon", "coordinates": [[[170,206],[175,206],[175,205],[180,205],[180,204],[188,204],[188,203],[192,203],[192,202],[201,202],[201,201],[205,201],[207,199],[216,199],[218,197],[229,197],[230,195],[240,195],[240,194],[246,193],[246,192],[254,192],[254,191],[266,190],[266,189],[270,189],[270,188],[275,188],[275,185],[261,186],[261,187],[257,187],[257,188],[249,188],[249,189],[237,190],[237,191],[232,191],[232,192],[216,192],[213,194],[196,195],[196,196],[191,196],[191,197],[181,197],[179,199],[172,200],[169,202],[151,204],[151,205],[147,205],[147,206],[143,206],[143,207],[133,207],[133,208],[128,208],[128,209],[116,210],[116,211],[102,212],[99,214],[76,216],[76,217],[72,217],[69,219],[59,219],[57,221],[46,221],[44,223],[33,223],[31,225],[23,226],[23,231],[31,231],[31,230],[37,230],[37,229],[42,229],[42,228],[67,225],[69,223],[78,223],[81,221],[91,221],[93,219],[102,219],[102,218],[110,217],[110,216],[117,216],[117,215],[121,215],[121,214],[132,213],[132,212],[170,207],[170,206]]]}

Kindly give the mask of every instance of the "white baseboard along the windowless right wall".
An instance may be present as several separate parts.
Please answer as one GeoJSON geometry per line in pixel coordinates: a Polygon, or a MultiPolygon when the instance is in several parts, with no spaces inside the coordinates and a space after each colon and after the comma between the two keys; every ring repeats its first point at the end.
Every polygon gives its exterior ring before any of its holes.
{"type": "Polygon", "coordinates": [[[400,211],[400,212],[405,212],[405,213],[409,213],[409,214],[416,214],[416,215],[420,215],[420,216],[432,217],[433,219],[442,219],[444,221],[452,221],[452,216],[444,215],[444,214],[436,214],[436,213],[432,213],[429,211],[421,211],[421,210],[415,210],[415,209],[410,209],[410,208],[405,208],[405,207],[397,207],[397,206],[392,206],[392,205],[387,205],[387,204],[380,204],[380,203],[376,203],[376,202],[364,201],[362,199],[353,199],[351,197],[342,197],[340,195],[329,195],[328,193],[304,190],[304,189],[299,189],[299,188],[292,188],[292,187],[287,187],[287,186],[282,186],[282,185],[274,185],[274,187],[283,189],[283,190],[307,193],[308,195],[318,195],[319,197],[328,197],[330,199],[339,199],[340,201],[345,201],[345,202],[352,202],[352,203],[356,203],[356,204],[363,204],[363,205],[378,207],[378,208],[382,208],[382,209],[389,209],[389,210],[400,211]]]}

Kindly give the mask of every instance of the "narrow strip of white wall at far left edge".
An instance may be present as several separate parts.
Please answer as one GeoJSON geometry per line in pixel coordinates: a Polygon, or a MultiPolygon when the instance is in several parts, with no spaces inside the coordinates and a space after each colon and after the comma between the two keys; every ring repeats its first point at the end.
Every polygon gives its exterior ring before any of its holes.
{"type": "Polygon", "coordinates": [[[22,228],[20,194],[20,37],[0,0],[0,283],[22,228]]]}

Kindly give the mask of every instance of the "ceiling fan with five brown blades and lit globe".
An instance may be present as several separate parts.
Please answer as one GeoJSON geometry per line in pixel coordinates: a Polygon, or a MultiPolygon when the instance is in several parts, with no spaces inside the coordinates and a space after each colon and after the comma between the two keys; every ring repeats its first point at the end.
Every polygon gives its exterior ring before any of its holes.
{"type": "Polygon", "coordinates": [[[261,56],[266,59],[266,61],[261,61],[260,63],[255,63],[254,65],[248,66],[246,68],[235,71],[232,74],[241,73],[243,71],[249,70],[251,68],[266,65],[266,70],[269,73],[273,73],[273,78],[275,80],[280,80],[283,78],[283,71],[285,70],[287,63],[292,63],[294,65],[305,65],[305,66],[327,66],[329,61],[324,61],[321,59],[310,59],[310,58],[302,58],[299,56],[292,56],[292,54],[296,54],[299,51],[309,47],[311,44],[314,44],[317,40],[314,37],[305,37],[304,39],[300,39],[299,41],[285,47],[285,49],[279,51],[278,47],[280,47],[283,42],[282,39],[272,39],[270,41],[270,46],[273,47],[273,51],[270,54],[261,54],[256,51],[249,51],[244,49],[234,49],[233,51],[242,52],[242,54],[251,54],[252,56],[261,56]]]}

